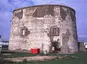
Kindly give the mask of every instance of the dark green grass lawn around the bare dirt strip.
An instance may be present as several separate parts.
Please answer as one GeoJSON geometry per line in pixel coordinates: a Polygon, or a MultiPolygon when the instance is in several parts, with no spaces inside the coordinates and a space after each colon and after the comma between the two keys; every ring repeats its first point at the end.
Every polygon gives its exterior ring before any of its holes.
{"type": "MultiPolygon", "coordinates": [[[[43,55],[43,54],[39,54],[43,55]]],[[[48,55],[55,55],[55,56],[64,56],[66,54],[48,54],[48,55]]],[[[67,54],[68,55],[68,54],[67,54]]],[[[49,61],[31,61],[31,62],[5,62],[5,64],[87,64],[87,52],[78,52],[75,54],[69,54],[71,56],[77,57],[76,59],[60,59],[60,60],[49,60],[49,61]]],[[[24,56],[35,56],[33,54],[29,53],[12,53],[12,55],[2,55],[3,58],[9,58],[9,57],[24,57],[24,56]]]]}

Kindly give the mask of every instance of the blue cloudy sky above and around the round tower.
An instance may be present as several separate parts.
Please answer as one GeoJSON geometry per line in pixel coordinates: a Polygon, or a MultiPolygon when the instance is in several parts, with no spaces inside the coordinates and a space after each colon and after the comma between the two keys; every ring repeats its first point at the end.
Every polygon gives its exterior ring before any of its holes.
{"type": "Polygon", "coordinates": [[[0,0],[0,34],[3,40],[9,40],[12,11],[16,8],[61,4],[76,11],[77,33],[79,41],[87,41],[87,0],[0,0]]]}

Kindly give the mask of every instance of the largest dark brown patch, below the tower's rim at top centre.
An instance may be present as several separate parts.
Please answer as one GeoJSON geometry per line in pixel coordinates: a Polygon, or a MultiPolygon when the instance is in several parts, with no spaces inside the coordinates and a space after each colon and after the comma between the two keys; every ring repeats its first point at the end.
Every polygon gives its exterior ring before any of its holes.
{"type": "Polygon", "coordinates": [[[38,7],[33,13],[33,17],[44,17],[45,15],[54,16],[53,6],[38,7]]]}

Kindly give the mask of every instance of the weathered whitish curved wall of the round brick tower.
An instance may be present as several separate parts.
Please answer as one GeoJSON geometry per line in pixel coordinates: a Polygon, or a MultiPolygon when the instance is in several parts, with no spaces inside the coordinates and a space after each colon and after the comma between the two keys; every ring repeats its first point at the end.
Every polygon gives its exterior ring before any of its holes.
{"type": "Polygon", "coordinates": [[[75,11],[62,5],[40,5],[13,12],[9,50],[40,48],[59,53],[78,51],[75,11]]]}

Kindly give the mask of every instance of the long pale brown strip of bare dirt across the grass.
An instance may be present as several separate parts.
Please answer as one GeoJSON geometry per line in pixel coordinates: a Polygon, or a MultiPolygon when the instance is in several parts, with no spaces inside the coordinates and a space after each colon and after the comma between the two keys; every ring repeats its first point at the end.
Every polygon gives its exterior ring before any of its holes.
{"type": "Polygon", "coordinates": [[[13,62],[22,62],[26,61],[45,61],[45,60],[60,60],[60,59],[74,59],[74,56],[32,56],[32,57],[19,57],[19,58],[4,58],[4,60],[13,61],[13,62]]]}

